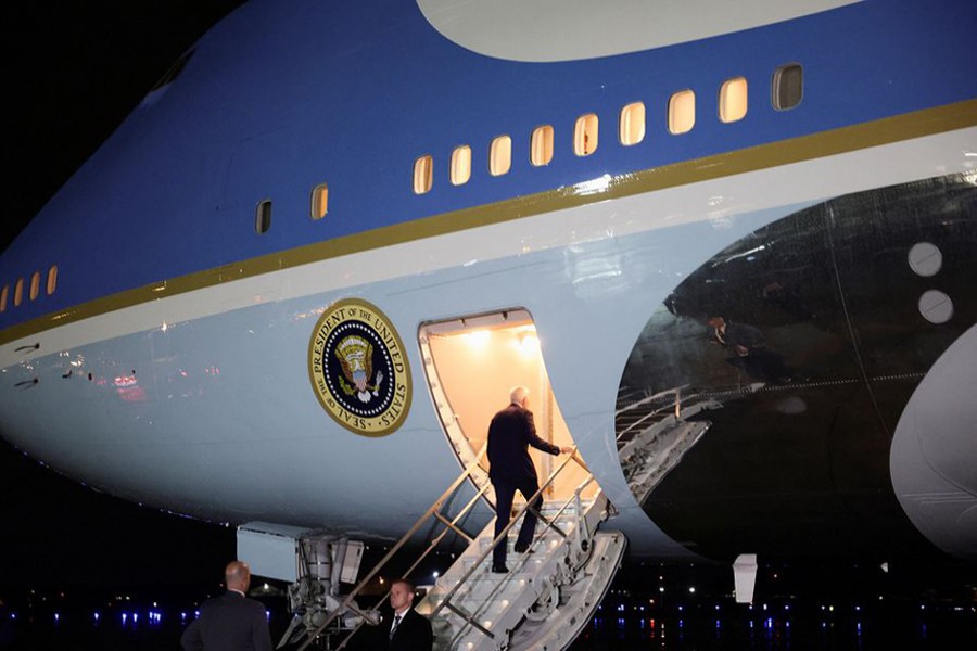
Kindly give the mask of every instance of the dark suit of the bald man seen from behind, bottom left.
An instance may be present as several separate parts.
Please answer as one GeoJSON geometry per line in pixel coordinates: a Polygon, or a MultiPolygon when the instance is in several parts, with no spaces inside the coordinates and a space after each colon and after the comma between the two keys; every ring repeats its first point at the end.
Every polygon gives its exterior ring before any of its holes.
{"type": "Polygon", "coordinates": [[[180,644],[185,651],[271,651],[265,607],[233,590],[208,599],[180,644]]]}

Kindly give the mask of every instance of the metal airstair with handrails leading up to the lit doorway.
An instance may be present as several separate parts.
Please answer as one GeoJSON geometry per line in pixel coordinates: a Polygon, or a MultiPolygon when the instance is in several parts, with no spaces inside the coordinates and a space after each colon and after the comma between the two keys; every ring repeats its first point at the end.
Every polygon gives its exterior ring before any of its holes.
{"type": "MultiPolygon", "coordinates": [[[[404,576],[409,576],[446,535],[454,533],[469,541],[468,548],[437,578],[436,584],[417,605],[417,611],[431,620],[435,650],[544,651],[570,646],[597,609],[623,559],[626,546],[624,535],[620,532],[598,531],[598,525],[607,519],[613,507],[599,489],[596,495],[589,495],[593,490],[588,492],[587,488],[594,483],[594,477],[587,472],[586,478],[569,499],[544,501],[530,550],[524,553],[512,550],[516,538],[513,529],[518,531],[517,527],[521,525],[528,505],[544,495],[569,463],[584,467],[574,452],[561,460],[536,495],[525,500],[498,539],[494,537],[494,520],[477,535],[469,535],[458,523],[464,521],[470,509],[488,492],[488,485],[481,487],[460,512],[448,515],[442,510],[452,502],[453,496],[478,469],[482,454],[345,597],[339,608],[315,630],[308,631],[300,651],[320,639],[330,625],[341,621],[350,612],[363,615],[353,633],[364,625],[378,623],[371,613],[376,613],[385,597],[372,611],[365,611],[356,604],[356,596],[431,519],[439,521],[443,528],[433,536],[427,549],[404,576]],[[582,497],[585,493],[588,495],[586,499],[582,497]],[[496,574],[491,571],[492,550],[496,541],[503,539],[509,545],[509,572],[496,574]]],[[[329,636],[325,637],[329,639],[329,636]]],[[[337,651],[345,648],[351,639],[352,635],[346,636],[335,647],[337,651]]]]}

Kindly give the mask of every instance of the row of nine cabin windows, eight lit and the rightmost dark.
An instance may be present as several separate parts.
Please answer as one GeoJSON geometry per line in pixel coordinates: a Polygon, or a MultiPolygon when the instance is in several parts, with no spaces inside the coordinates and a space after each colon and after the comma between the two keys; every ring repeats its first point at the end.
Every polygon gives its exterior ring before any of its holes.
{"type": "MultiPolygon", "coordinates": [[[[783,65],[774,72],[771,80],[771,104],[777,111],[794,108],[803,95],[803,71],[800,64],[783,65]]],[[[748,88],[746,77],[727,79],[720,87],[718,114],[722,123],[734,123],[746,117],[748,88]]],[[[691,131],[696,124],[696,93],[680,90],[669,98],[668,129],[673,136],[691,131]]],[[[618,141],[624,146],[638,144],[645,139],[645,103],[633,102],[621,108],[618,119],[618,141]]],[[[599,144],[599,119],[587,113],[576,118],[573,127],[573,153],[589,156],[599,144]]],[[[533,129],[530,136],[530,163],[534,167],[549,165],[554,154],[553,125],[533,129]]],[[[453,186],[465,184],[471,179],[471,146],[456,146],[451,158],[451,181],[453,186]]],[[[499,136],[488,145],[488,174],[502,176],[512,167],[512,139],[499,136]]],[[[414,192],[424,194],[434,184],[434,157],[420,156],[414,162],[414,192]]]]}

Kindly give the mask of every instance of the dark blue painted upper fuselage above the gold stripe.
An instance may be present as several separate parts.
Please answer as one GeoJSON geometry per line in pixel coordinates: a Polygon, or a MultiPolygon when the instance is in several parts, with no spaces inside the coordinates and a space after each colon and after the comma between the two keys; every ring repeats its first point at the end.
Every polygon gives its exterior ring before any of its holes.
{"type": "MultiPolygon", "coordinates": [[[[151,93],[0,258],[11,298],[0,329],[188,273],[398,222],[597,178],[656,168],[977,97],[967,53],[977,11],[962,1],[854,5],[701,41],[562,63],[467,51],[413,2],[334,5],[255,0],[195,46],[180,75],[151,93]],[[803,101],[775,111],[770,77],[804,69],[803,101]],[[722,82],[744,76],[749,111],[716,118],[722,82]],[[669,135],[669,97],[698,98],[695,128],[669,135]],[[617,142],[622,106],[647,105],[648,135],[617,142]],[[596,113],[599,149],[575,156],[574,120],[596,113]],[[555,155],[529,162],[532,130],[555,129],[555,155]],[[487,173],[491,140],[509,135],[512,169],[487,173]],[[472,178],[448,158],[472,149],[472,178]],[[433,189],[413,191],[418,156],[433,189]],[[309,194],[329,184],[329,214],[309,194]],[[272,202],[258,234],[255,206],[272,202]],[[13,306],[17,279],[52,265],[52,295],[13,306]]],[[[26,294],[26,291],[25,291],[26,294]]]]}

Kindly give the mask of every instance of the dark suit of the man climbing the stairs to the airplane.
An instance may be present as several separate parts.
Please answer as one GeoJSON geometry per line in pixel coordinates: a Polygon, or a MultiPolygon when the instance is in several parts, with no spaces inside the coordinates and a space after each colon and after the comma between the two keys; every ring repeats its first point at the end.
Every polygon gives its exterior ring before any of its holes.
{"type": "MultiPolygon", "coordinates": [[[[509,524],[512,512],[512,498],[519,490],[525,499],[531,498],[538,489],[536,468],[529,456],[529,446],[559,455],[560,448],[546,443],[536,436],[533,412],[512,404],[499,411],[488,425],[488,478],[495,487],[495,536],[509,524]]],[[[540,509],[543,498],[536,500],[533,508],[540,509]]],[[[525,512],[516,547],[522,549],[533,541],[536,529],[536,516],[532,511],[525,512]]],[[[492,564],[500,567],[506,564],[506,542],[503,540],[493,550],[492,564]]]]}

